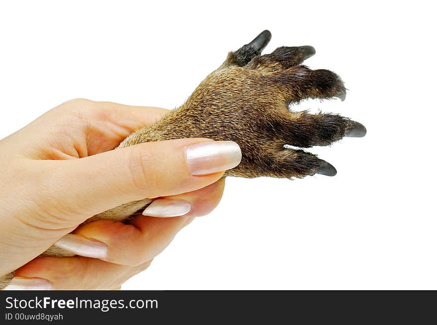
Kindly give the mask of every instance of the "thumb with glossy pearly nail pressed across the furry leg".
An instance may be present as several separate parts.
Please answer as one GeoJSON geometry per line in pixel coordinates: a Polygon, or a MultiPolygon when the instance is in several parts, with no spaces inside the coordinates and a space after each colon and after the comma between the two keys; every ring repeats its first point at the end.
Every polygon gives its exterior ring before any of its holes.
{"type": "Polygon", "coordinates": [[[134,200],[201,189],[216,182],[240,160],[240,147],[233,141],[188,138],[50,161],[50,174],[46,175],[52,184],[49,195],[55,195],[57,204],[86,220],[134,200]]]}

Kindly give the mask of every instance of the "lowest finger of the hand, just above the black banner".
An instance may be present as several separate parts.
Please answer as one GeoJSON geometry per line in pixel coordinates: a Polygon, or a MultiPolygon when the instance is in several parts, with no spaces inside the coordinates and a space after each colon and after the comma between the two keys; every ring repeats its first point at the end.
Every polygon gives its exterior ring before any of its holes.
{"type": "Polygon", "coordinates": [[[84,257],[36,258],[16,270],[3,290],[111,290],[150,263],[126,266],[84,257]]]}

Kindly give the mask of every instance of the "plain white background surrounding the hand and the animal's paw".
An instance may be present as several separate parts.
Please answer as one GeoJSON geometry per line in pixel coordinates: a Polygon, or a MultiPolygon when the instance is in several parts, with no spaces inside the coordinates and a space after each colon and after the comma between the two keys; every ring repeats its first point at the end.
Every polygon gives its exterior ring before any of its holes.
{"type": "Polygon", "coordinates": [[[269,29],[265,53],[312,45],[306,64],[349,89],[345,102],[300,108],[351,117],[366,137],[311,149],[336,177],[228,178],[219,207],[123,288],[437,289],[436,26],[426,3],[4,1],[0,138],[75,97],[174,108],[229,50],[269,29]]]}

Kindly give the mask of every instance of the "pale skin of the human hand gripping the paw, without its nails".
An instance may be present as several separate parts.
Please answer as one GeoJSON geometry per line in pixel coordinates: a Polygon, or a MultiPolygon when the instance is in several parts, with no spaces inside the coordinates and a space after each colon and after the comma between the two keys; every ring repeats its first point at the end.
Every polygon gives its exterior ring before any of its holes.
{"type": "Polygon", "coordinates": [[[43,279],[50,289],[116,289],[146,269],[193,218],[211,212],[232,164],[193,176],[186,148],[212,140],[112,150],[167,112],[75,99],[0,140],[0,275],[17,269],[15,277],[43,279]],[[146,197],[183,200],[191,207],[181,216],[139,214],[128,224],[98,220],[77,228],[95,214],[146,197]],[[106,256],[38,257],[72,232],[102,243],[106,256]]]}

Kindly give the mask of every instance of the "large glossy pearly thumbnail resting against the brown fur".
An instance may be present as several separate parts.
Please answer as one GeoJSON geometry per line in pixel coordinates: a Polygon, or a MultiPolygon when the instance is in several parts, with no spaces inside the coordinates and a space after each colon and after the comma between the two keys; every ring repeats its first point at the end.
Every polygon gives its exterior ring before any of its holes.
{"type": "Polygon", "coordinates": [[[237,166],[241,150],[233,141],[208,141],[187,147],[187,162],[191,175],[200,176],[222,172],[237,166]]]}

